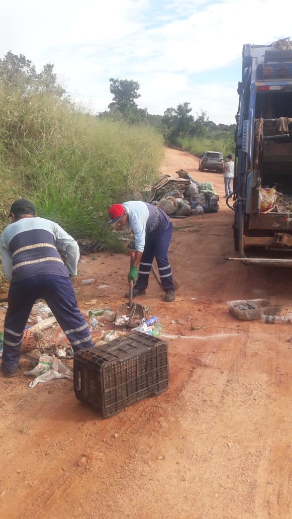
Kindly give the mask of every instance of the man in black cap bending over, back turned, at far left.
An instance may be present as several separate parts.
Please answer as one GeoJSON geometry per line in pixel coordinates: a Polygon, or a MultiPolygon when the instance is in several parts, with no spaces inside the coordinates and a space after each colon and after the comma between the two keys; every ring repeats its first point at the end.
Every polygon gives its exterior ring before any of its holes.
{"type": "Polygon", "coordinates": [[[10,281],[2,377],[18,373],[22,336],[37,299],[46,301],[74,352],[93,347],[70,279],[77,275],[80,256],[77,242],[57,223],[37,217],[29,200],[21,198],[13,202],[9,216],[12,223],[0,238],[2,265],[10,281]],[[57,248],[65,254],[66,266],[57,248]]]}

